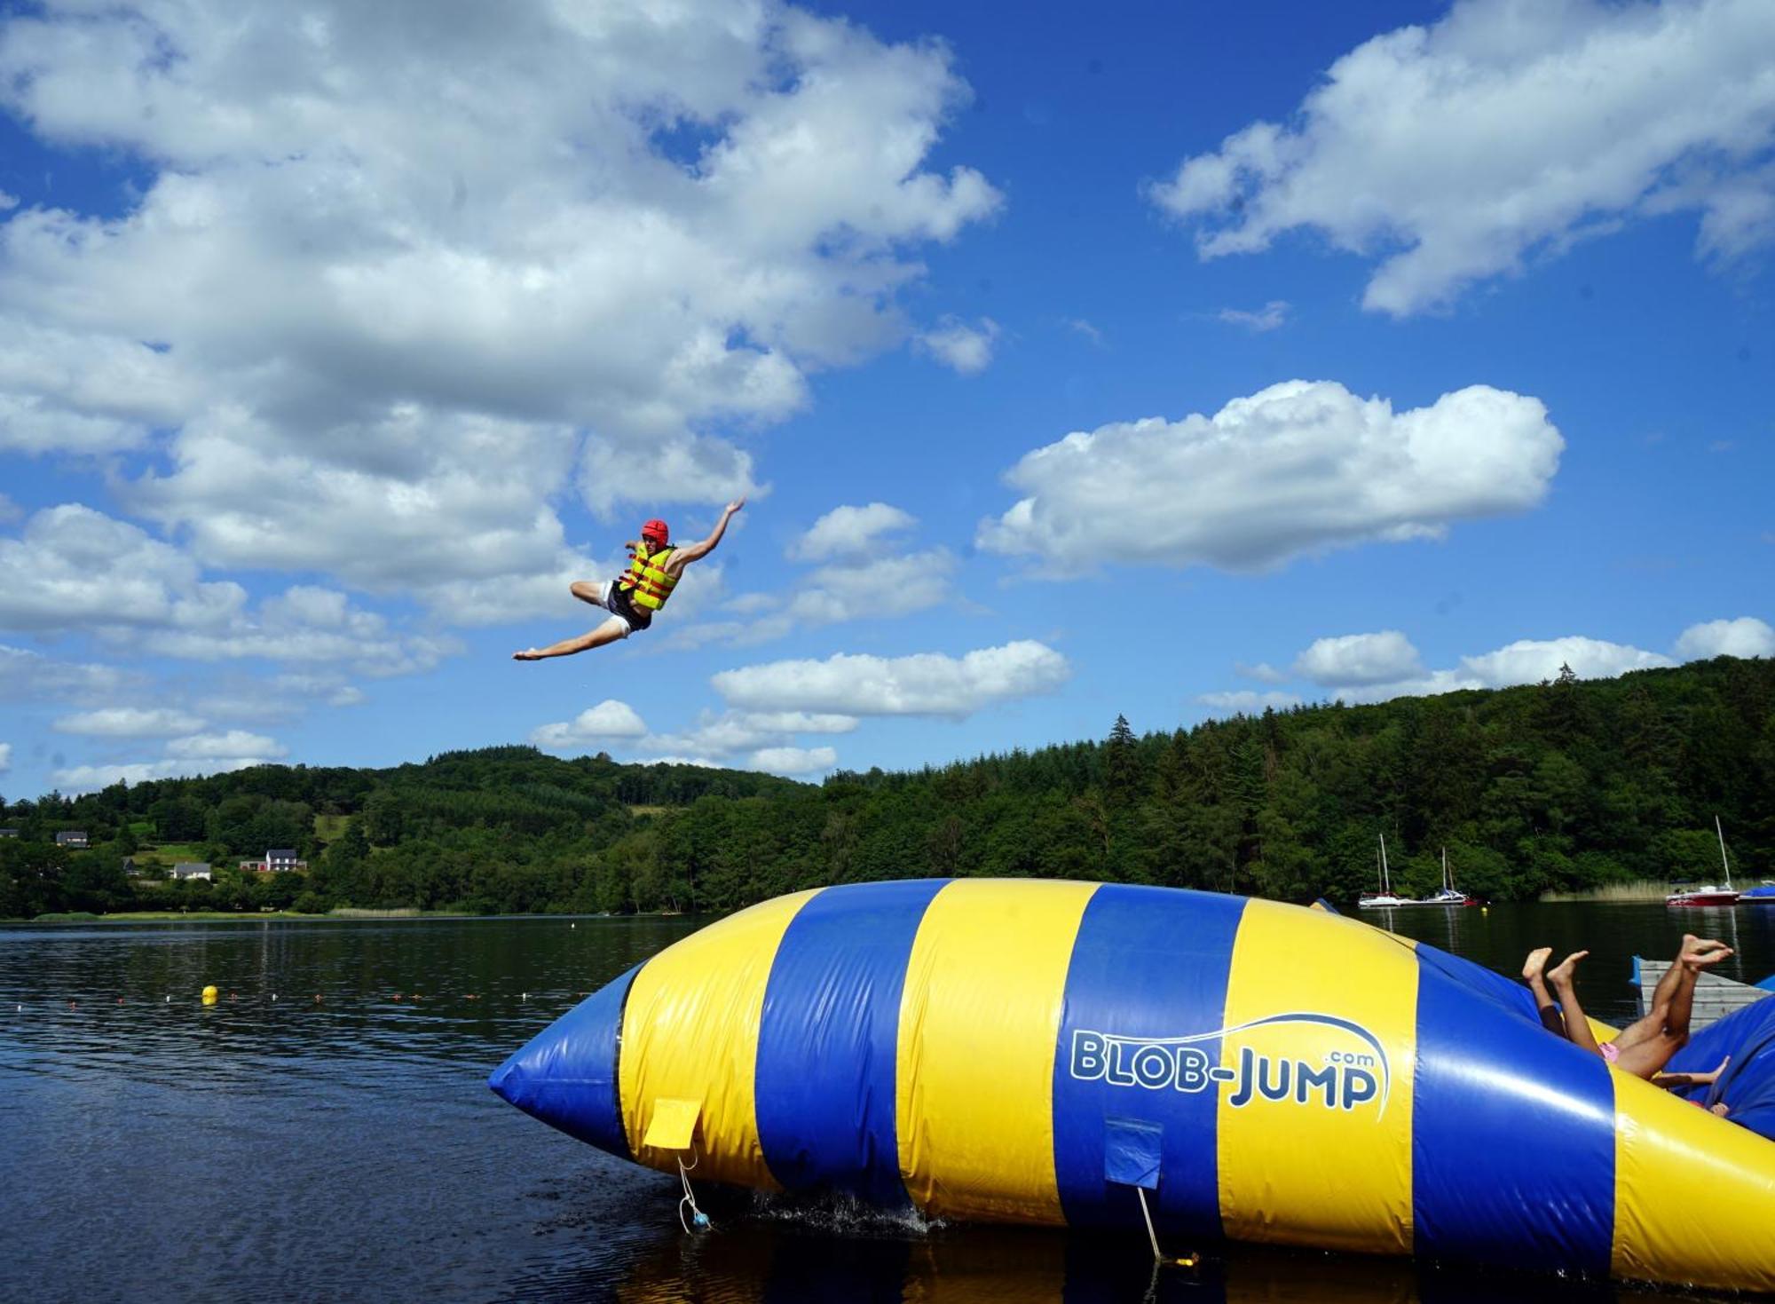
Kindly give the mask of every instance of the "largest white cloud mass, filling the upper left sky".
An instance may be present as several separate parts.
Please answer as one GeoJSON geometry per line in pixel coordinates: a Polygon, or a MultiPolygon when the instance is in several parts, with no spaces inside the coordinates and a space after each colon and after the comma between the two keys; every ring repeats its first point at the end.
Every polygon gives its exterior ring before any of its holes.
{"type": "Polygon", "coordinates": [[[447,618],[559,569],[575,485],[756,490],[737,432],[912,334],[919,247],[1001,203],[930,163],[967,96],[756,0],[11,12],[0,112],[142,179],[0,224],[0,448],[153,439],[119,494],[199,565],[447,618]]]}

